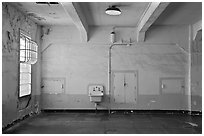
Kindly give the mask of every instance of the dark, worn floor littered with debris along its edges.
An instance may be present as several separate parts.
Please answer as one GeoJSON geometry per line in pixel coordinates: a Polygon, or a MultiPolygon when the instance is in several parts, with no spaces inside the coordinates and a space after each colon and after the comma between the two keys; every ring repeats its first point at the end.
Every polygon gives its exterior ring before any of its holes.
{"type": "Polygon", "coordinates": [[[10,134],[201,134],[202,117],[186,114],[41,113],[10,134]]]}

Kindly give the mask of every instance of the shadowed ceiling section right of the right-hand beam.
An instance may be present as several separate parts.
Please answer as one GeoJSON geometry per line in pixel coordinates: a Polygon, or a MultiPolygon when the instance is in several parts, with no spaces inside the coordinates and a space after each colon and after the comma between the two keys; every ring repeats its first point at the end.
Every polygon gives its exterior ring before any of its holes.
{"type": "Polygon", "coordinates": [[[157,25],[189,25],[202,19],[201,2],[172,2],[154,22],[157,25]]]}

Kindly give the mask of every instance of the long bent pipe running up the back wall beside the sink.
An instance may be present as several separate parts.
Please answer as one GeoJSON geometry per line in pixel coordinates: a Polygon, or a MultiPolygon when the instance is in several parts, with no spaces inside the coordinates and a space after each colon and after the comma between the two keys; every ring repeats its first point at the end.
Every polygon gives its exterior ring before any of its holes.
{"type": "Polygon", "coordinates": [[[134,43],[115,43],[115,44],[111,44],[111,46],[109,47],[108,50],[108,91],[109,91],[109,108],[108,108],[108,112],[109,114],[111,113],[111,49],[114,46],[129,46],[132,45],[134,43]]]}

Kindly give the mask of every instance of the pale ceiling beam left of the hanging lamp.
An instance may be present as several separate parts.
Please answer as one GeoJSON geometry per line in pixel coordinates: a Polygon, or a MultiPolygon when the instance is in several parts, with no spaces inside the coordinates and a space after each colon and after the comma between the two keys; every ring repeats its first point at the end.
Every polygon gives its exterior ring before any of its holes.
{"type": "Polygon", "coordinates": [[[79,4],[74,2],[61,2],[61,5],[67,13],[68,17],[71,17],[74,25],[79,30],[81,40],[83,42],[87,42],[88,24],[79,4]]]}

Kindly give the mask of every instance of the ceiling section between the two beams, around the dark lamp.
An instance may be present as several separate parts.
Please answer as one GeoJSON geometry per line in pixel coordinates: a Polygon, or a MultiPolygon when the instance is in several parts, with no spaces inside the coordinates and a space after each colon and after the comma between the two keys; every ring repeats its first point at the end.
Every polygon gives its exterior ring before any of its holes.
{"type": "Polygon", "coordinates": [[[96,26],[136,26],[147,9],[149,2],[88,2],[82,3],[89,25],[96,26]],[[122,11],[120,16],[105,14],[110,5],[117,5],[122,11]]]}

